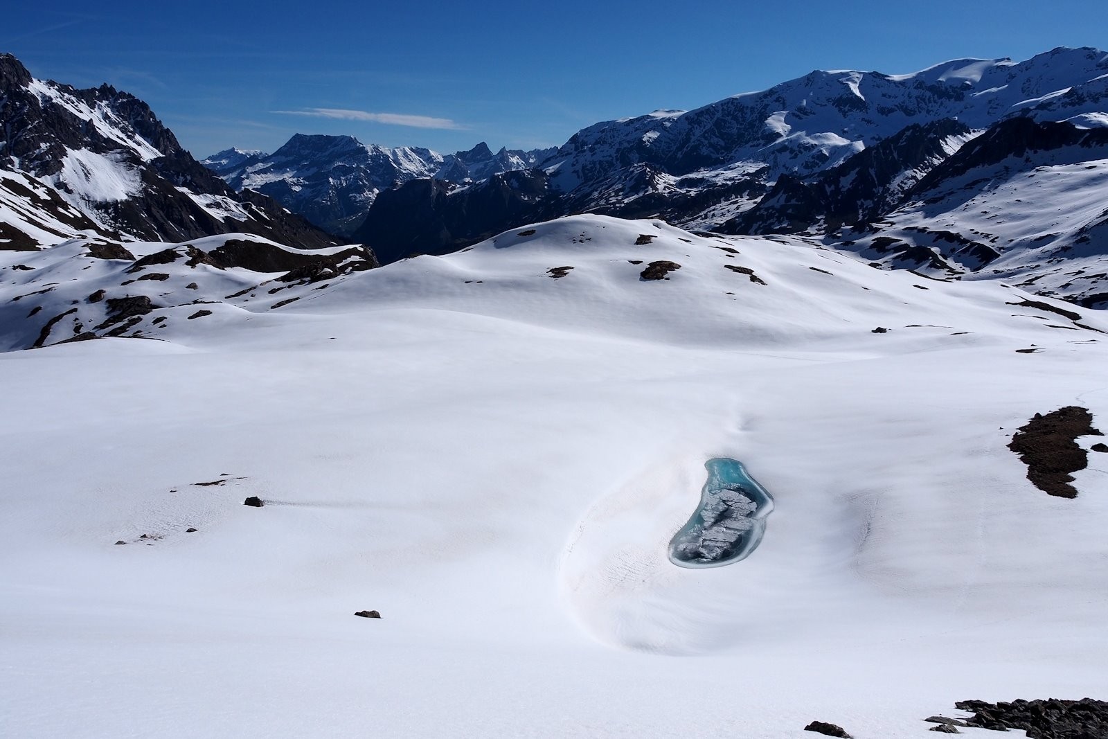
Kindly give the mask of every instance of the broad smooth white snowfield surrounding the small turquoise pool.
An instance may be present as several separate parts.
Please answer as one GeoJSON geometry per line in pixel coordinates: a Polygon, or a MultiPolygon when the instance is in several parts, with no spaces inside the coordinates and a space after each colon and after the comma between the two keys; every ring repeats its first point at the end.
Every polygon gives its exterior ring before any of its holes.
{"type": "MultiPolygon", "coordinates": [[[[1006,444],[1074,403],[1108,431],[1108,320],[799,239],[533,228],[0,355],[2,732],[895,739],[1102,697],[1108,454],[1061,500],[1006,444]],[[766,537],[676,567],[720,455],[766,537]]],[[[0,252],[0,304],[119,268],[52,252],[0,252]]]]}

